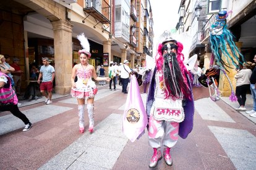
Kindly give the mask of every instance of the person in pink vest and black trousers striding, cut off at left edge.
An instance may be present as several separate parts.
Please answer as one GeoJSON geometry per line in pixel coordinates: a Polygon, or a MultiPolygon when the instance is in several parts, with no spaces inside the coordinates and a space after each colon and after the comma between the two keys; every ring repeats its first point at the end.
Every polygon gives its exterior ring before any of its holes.
{"type": "Polygon", "coordinates": [[[28,120],[18,107],[18,98],[11,86],[11,78],[0,71],[0,111],[11,111],[12,115],[21,119],[25,123],[23,132],[32,127],[28,120]]]}

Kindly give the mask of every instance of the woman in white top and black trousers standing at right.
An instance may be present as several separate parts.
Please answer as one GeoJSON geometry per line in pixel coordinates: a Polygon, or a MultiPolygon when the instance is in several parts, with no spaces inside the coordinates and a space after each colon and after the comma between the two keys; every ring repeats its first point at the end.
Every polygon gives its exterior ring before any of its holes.
{"type": "Polygon", "coordinates": [[[236,97],[239,103],[239,108],[236,110],[247,110],[245,108],[246,92],[250,89],[250,76],[252,75],[252,66],[255,63],[245,62],[242,65],[242,70],[237,70],[236,78],[236,97]]]}

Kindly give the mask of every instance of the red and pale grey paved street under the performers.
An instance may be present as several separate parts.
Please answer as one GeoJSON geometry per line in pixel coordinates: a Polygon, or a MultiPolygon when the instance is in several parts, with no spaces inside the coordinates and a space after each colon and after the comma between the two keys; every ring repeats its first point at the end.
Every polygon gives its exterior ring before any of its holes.
{"type": "MultiPolygon", "coordinates": [[[[212,102],[208,89],[195,88],[194,96],[193,131],[171,148],[173,166],[161,160],[155,169],[256,169],[256,118],[234,110],[237,104],[225,97],[212,102]]],[[[51,105],[22,101],[20,110],[33,123],[27,132],[19,119],[0,113],[0,169],[149,169],[147,133],[134,143],[122,134],[126,97],[121,86],[99,88],[93,134],[88,116],[86,132],[79,133],[77,101],[70,96],[55,95],[51,105]]]]}

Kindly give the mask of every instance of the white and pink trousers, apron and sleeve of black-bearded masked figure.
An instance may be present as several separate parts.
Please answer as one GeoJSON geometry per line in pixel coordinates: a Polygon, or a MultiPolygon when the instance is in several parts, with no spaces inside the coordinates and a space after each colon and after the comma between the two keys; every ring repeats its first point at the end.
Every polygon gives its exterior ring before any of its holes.
{"type": "Polygon", "coordinates": [[[155,101],[150,110],[148,143],[153,148],[160,148],[162,144],[171,148],[177,142],[179,123],[184,120],[185,115],[182,99],[165,99],[164,91],[160,88],[160,76],[163,76],[161,71],[156,71],[155,101]],[[162,116],[155,118],[154,111],[162,116]]]}

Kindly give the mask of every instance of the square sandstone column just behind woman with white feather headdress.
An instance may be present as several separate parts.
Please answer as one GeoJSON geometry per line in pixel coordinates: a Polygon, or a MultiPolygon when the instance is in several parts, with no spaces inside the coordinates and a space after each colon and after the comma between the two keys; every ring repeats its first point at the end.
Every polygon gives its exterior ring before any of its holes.
{"type": "Polygon", "coordinates": [[[72,24],[63,20],[51,22],[54,33],[55,91],[69,94],[72,74],[72,24]]]}

